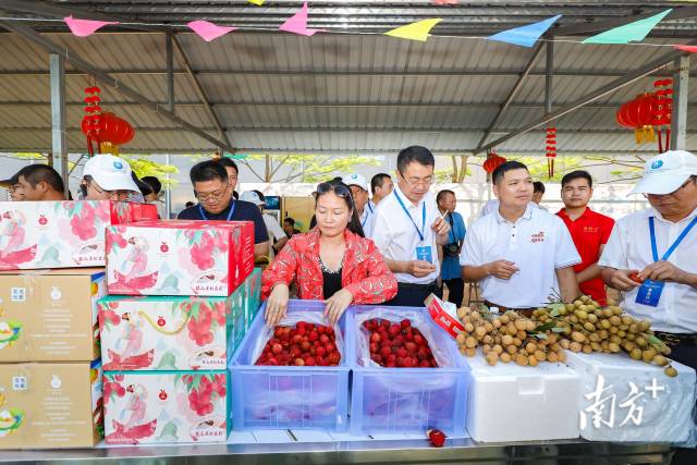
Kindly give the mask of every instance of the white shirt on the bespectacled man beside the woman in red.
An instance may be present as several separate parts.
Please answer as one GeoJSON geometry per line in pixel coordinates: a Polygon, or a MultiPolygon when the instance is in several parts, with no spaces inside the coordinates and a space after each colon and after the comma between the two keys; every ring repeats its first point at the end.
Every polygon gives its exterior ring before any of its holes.
{"type": "Polygon", "coordinates": [[[431,257],[433,265],[436,265],[436,271],[424,278],[416,278],[408,273],[394,273],[399,282],[429,284],[436,281],[440,274],[436,233],[431,230],[431,224],[433,224],[436,218],[439,217],[437,210],[436,198],[430,192],[424,195],[424,198],[418,205],[414,205],[406,198],[396,184],[394,185],[394,191],[378,204],[372,220],[371,238],[378,247],[378,250],[380,250],[386,258],[400,261],[416,260],[416,247],[424,245],[431,246],[431,257]],[[414,220],[413,222],[404,209],[402,209],[396,195],[399,195],[404,203],[404,206],[414,220]],[[423,208],[426,208],[426,222],[421,231],[424,234],[424,241],[421,242],[414,223],[421,230],[423,208]]]}

